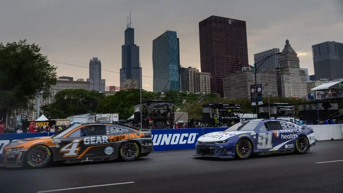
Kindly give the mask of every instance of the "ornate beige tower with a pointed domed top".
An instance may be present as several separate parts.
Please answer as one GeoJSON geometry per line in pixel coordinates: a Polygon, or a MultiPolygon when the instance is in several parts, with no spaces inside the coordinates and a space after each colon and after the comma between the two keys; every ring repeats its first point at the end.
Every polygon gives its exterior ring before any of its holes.
{"type": "Polygon", "coordinates": [[[286,40],[277,64],[277,95],[279,97],[307,96],[306,72],[300,69],[297,53],[286,40]]]}

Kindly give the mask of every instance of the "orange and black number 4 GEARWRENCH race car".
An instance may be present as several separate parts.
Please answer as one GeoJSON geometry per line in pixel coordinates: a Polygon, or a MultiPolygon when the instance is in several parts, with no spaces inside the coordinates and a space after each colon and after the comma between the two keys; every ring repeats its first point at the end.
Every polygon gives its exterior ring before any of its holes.
{"type": "Polygon", "coordinates": [[[84,123],[56,132],[11,142],[3,147],[0,165],[42,168],[53,161],[67,163],[134,161],[153,151],[151,132],[108,123],[84,123]]]}

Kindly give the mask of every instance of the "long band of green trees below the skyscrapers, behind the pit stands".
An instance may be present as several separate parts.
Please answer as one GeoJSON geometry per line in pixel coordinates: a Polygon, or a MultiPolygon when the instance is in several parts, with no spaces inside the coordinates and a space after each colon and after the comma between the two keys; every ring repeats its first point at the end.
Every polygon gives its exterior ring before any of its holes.
{"type": "MultiPolygon", "coordinates": [[[[134,113],[134,105],[140,103],[139,89],[119,91],[116,94],[107,97],[96,95],[96,93],[99,94],[95,91],[87,92],[82,89],[63,90],[55,95],[55,103],[46,105],[42,109],[44,109],[45,114],[50,118],[67,118],[71,115],[97,112],[119,113],[120,119],[128,119],[134,113]],[[92,98],[92,100],[89,98],[92,98]]],[[[184,112],[187,110],[188,117],[193,119],[202,119],[202,105],[211,101],[241,104],[241,113],[256,113],[256,107],[251,106],[250,97],[246,99],[224,99],[220,98],[217,94],[206,94],[204,100],[200,104],[197,102],[199,97],[200,94],[187,92],[166,91],[161,94],[142,90],[143,102],[156,99],[174,101],[175,111],[184,112]],[[161,97],[159,97],[160,95],[161,97]]],[[[303,102],[303,99],[299,98],[270,97],[269,100],[270,102],[284,102],[294,105],[303,102]]],[[[264,97],[263,102],[267,103],[268,98],[264,97]]]]}

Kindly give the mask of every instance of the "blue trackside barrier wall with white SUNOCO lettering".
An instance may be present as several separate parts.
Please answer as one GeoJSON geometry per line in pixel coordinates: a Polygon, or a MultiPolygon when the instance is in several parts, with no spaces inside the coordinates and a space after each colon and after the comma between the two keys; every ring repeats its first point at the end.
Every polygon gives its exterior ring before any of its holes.
{"type": "MultiPolygon", "coordinates": [[[[187,129],[152,129],[154,151],[195,149],[198,138],[211,132],[224,131],[227,127],[187,128],[187,129]]],[[[0,157],[2,147],[12,141],[51,136],[54,133],[22,133],[0,134],[0,157]]]]}

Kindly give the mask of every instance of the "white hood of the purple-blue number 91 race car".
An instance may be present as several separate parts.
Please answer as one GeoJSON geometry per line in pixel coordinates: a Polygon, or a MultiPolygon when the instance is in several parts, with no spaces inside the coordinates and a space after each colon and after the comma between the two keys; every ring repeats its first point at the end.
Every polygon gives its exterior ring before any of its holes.
{"type": "Polygon", "coordinates": [[[214,141],[224,141],[231,137],[234,137],[239,134],[250,134],[255,132],[248,131],[230,131],[230,132],[213,132],[208,133],[198,138],[200,142],[214,142],[214,141]]]}

